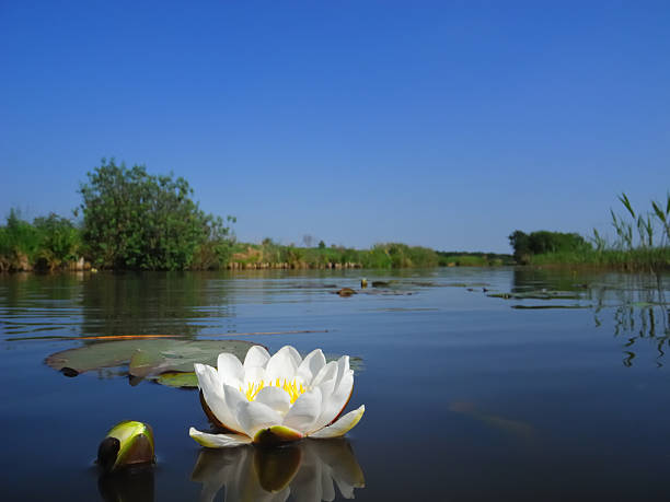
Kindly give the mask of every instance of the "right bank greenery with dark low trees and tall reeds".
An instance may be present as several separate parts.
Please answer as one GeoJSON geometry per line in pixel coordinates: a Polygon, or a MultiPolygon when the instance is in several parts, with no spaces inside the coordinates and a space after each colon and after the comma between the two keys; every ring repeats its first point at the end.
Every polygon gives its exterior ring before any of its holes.
{"type": "Polygon", "coordinates": [[[559,232],[519,230],[509,236],[515,259],[520,264],[576,265],[623,270],[670,269],[670,194],[666,203],[651,201],[648,211],[636,211],[626,194],[619,196],[623,214],[610,210],[615,238],[608,240],[593,229],[588,240],[559,232]]]}

